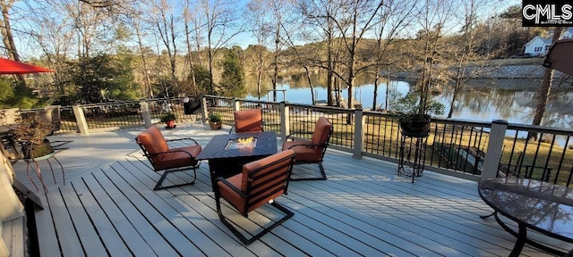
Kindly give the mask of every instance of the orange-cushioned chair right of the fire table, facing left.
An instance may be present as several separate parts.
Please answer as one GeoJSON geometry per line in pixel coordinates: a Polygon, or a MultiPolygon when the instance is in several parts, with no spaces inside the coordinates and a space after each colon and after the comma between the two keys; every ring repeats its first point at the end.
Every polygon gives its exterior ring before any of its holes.
{"type": "Polygon", "coordinates": [[[295,164],[318,163],[321,169],[321,177],[291,178],[291,180],[326,180],[326,173],[324,168],[322,168],[322,158],[326,148],[329,147],[330,137],[332,136],[332,124],[328,119],[320,117],[316,121],[311,140],[294,139],[294,136],[301,134],[304,133],[288,135],[286,141],[283,142],[283,150],[291,149],[295,151],[295,164]]]}

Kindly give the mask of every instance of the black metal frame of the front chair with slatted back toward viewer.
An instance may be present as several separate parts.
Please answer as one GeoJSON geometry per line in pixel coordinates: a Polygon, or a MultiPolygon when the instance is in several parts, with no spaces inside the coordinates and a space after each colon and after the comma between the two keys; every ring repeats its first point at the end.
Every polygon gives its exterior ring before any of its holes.
{"type": "MultiPolygon", "coordinates": [[[[292,154],[292,155],[286,156],[285,158],[281,158],[281,159],[279,159],[279,160],[277,160],[277,161],[275,161],[275,162],[272,162],[272,163],[269,163],[269,164],[267,164],[267,165],[265,165],[265,166],[262,166],[262,167],[259,168],[259,169],[251,170],[251,171],[249,172],[249,178],[247,179],[247,192],[246,192],[246,193],[243,192],[243,191],[241,191],[240,188],[237,188],[237,187],[233,186],[231,183],[229,183],[229,182],[227,181],[226,178],[218,177],[218,178],[217,178],[217,181],[223,182],[225,185],[227,185],[227,187],[233,189],[233,191],[235,191],[236,194],[241,195],[241,197],[244,198],[245,203],[246,203],[246,204],[244,204],[244,206],[243,206],[244,209],[243,209],[243,210],[237,210],[237,211],[241,212],[241,214],[244,216],[244,218],[248,218],[248,210],[249,210],[249,208],[250,208],[252,205],[255,205],[255,204],[257,204],[257,203],[261,203],[261,201],[265,201],[265,200],[267,199],[268,195],[274,195],[275,193],[277,193],[277,192],[280,191],[280,190],[284,190],[284,191],[283,191],[283,195],[288,195],[288,192],[287,192],[287,189],[288,189],[288,181],[290,180],[290,175],[291,175],[292,170],[293,170],[294,161],[295,161],[295,155],[292,154]],[[264,192],[264,191],[263,191],[263,192],[260,192],[260,193],[258,193],[258,194],[255,194],[255,195],[251,195],[251,192],[252,192],[253,190],[258,189],[259,187],[265,187],[265,186],[266,186],[266,187],[269,187],[269,186],[267,185],[267,183],[261,183],[259,186],[252,186],[252,184],[251,184],[251,183],[252,183],[252,180],[253,180],[253,178],[256,178],[257,173],[260,172],[261,170],[265,170],[265,169],[269,168],[270,166],[276,165],[277,162],[284,162],[284,161],[287,160],[287,159],[290,159],[290,162],[288,162],[288,164],[286,164],[286,165],[288,165],[288,166],[290,166],[290,167],[288,168],[288,171],[287,171],[287,174],[286,174],[286,179],[276,181],[275,184],[273,184],[273,185],[279,185],[279,184],[281,184],[281,183],[284,183],[285,186],[284,186],[284,187],[278,187],[277,189],[275,189],[275,190],[273,190],[273,191],[270,191],[270,192],[264,192]],[[264,194],[264,195],[263,195],[263,194],[264,194]],[[260,197],[260,195],[263,195],[263,196],[261,197],[261,200],[259,200],[259,201],[257,201],[257,202],[250,203],[249,200],[250,200],[251,198],[260,197]],[[267,195],[267,196],[265,196],[265,195],[267,195]]],[[[255,162],[256,162],[256,161],[255,161],[255,162]]],[[[282,168],[284,168],[284,167],[285,167],[285,165],[281,165],[281,166],[279,166],[279,167],[277,167],[276,169],[273,169],[273,170],[282,169],[282,168]]],[[[273,181],[273,180],[275,180],[275,178],[278,178],[278,177],[280,177],[280,176],[281,176],[281,175],[274,176],[274,177],[272,177],[272,178],[268,178],[266,181],[273,181]]],[[[272,206],[274,206],[275,208],[277,208],[278,211],[282,211],[282,212],[285,214],[285,216],[283,216],[280,220],[275,221],[275,222],[274,222],[272,225],[270,225],[269,227],[263,228],[263,230],[262,230],[260,233],[258,233],[258,234],[256,234],[256,235],[252,236],[251,238],[248,238],[248,239],[247,239],[245,236],[243,236],[243,234],[241,234],[241,232],[240,232],[237,228],[235,228],[235,227],[231,224],[231,222],[229,222],[229,220],[227,220],[227,217],[225,217],[225,215],[223,215],[223,211],[221,211],[221,200],[220,200],[220,198],[222,198],[222,195],[221,195],[221,193],[219,192],[218,187],[215,187],[215,188],[213,188],[213,189],[214,189],[214,191],[215,191],[215,203],[217,203],[217,213],[218,213],[218,218],[219,218],[219,220],[221,220],[221,222],[223,222],[223,224],[224,224],[227,228],[229,228],[229,229],[231,230],[231,232],[233,232],[233,234],[235,234],[235,236],[239,237],[239,239],[241,240],[241,242],[243,242],[244,245],[251,245],[252,242],[258,240],[259,238],[261,238],[261,236],[264,236],[265,234],[269,233],[270,230],[272,230],[273,228],[276,228],[277,226],[279,226],[280,224],[282,224],[282,223],[285,222],[286,220],[288,220],[288,219],[290,219],[291,217],[293,217],[293,215],[295,215],[295,213],[294,213],[293,211],[290,211],[290,210],[286,209],[285,206],[283,206],[283,205],[277,203],[277,201],[275,201],[274,199],[272,199],[272,200],[269,201],[269,203],[270,203],[272,206]]],[[[225,199],[225,198],[224,198],[224,199],[225,199]]],[[[226,201],[227,201],[227,200],[226,200],[226,201]]],[[[231,204],[231,205],[232,205],[232,204],[231,204]]]]}

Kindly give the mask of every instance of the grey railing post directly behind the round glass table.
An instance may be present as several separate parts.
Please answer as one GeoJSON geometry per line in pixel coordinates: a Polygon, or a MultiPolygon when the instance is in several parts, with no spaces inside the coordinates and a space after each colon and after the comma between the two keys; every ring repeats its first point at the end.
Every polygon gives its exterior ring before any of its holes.
{"type": "Polygon", "coordinates": [[[485,152],[485,159],[483,160],[483,170],[481,180],[489,178],[496,178],[498,169],[500,167],[501,153],[503,150],[503,139],[505,132],[508,129],[508,121],[506,120],[493,120],[492,132],[490,133],[490,140],[487,145],[487,152],[485,152]]]}

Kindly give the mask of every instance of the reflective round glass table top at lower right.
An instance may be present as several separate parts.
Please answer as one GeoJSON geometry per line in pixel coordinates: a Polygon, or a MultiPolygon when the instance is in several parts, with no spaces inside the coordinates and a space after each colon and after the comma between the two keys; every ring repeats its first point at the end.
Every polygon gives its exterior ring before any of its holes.
{"type": "Polygon", "coordinates": [[[527,227],[573,242],[573,188],[527,178],[482,181],[483,201],[527,227]]]}

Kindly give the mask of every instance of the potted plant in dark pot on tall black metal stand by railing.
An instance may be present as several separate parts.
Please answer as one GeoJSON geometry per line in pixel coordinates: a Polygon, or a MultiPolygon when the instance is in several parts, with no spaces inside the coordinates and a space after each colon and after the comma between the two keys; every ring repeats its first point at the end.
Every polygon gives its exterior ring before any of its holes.
{"type": "Polygon", "coordinates": [[[394,112],[398,112],[400,129],[411,134],[427,134],[430,131],[430,114],[441,115],[445,108],[440,102],[419,92],[408,93],[392,107],[394,112]]]}

